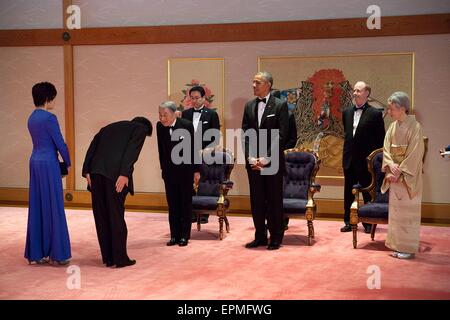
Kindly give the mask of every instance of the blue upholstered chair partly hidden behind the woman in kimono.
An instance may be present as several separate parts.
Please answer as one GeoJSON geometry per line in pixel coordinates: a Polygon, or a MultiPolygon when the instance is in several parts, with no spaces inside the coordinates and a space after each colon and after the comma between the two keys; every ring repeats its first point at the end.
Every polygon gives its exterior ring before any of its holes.
{"type": "MultiPolygon", "coordinates": [[[[425,157],[428,151],[428,138],[424,137],[425,151],[422,161],[425,162],[425,157]]],[[[381,185],[384,180],[384,172],[381,171],[383,164],[383,148],[374,150],[367,157],[368,170],[372,176],[370,185],[363,188],[361,185],[356,184],[353,186],[353,194],[355,195],[355,200],[350,207],[350,225],[352,226],[353,232],[353,248],[356,249],[357,246],[357,230],[358,223],[364,222],[372,225],[370,237],[372,241],[375,240],[375,231],[378,224],[388,224],[389,222],[389,190],[385,193],[381,193],[381,185]],[[361,192],[369,192],[371,202],[360,205],[359,198],[361,192]]]]}

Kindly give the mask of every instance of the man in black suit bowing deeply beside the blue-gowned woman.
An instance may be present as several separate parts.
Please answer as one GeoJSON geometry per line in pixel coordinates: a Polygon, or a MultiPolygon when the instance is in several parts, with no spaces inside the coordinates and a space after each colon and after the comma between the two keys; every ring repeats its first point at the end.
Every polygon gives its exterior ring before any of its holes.
{"type": "Polygon", "coordinates": [[[134,163],[152,130],[144,117],[111,123],[95,135],[84,159],[82,174],[91,191],[98,242],[107,267],[136,263],[127,254],[124,204],[128,192],[134,194],[134,163]]]}

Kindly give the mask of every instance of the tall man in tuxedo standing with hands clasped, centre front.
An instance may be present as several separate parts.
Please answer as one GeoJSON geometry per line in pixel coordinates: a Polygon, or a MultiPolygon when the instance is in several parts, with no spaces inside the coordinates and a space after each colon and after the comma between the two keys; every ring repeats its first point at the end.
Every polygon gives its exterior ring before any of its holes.
{"type": "Polygon", "coordinates": [[[255,75],[253,94],[257,98],[247,102],[242,119],[250,202],[256,229],[255,239],[245,247],[267,245],[267,219],[270,232],[267,249],[277,250],[284,236],[283,175],[286,168],[283,151],[289,115],[287,103],[270,94],[272,84],[270,73],[258,72],[255,75]]]}

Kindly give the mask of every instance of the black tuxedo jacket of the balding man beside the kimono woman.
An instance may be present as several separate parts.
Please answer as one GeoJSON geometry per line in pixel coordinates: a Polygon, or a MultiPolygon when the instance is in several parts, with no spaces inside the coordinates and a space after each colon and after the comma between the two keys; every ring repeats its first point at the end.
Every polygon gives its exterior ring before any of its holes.
{"type": "Polygon", "coordinates": [[[342,113],[345,135],[342,165],[345,170],[352,165],[367,168],[367,156],[373,150],[383,147],[384,142],[384,121],[380,110],[366,102],[353,137],[354,114],[354,108],[347,108],[342,113]]]}

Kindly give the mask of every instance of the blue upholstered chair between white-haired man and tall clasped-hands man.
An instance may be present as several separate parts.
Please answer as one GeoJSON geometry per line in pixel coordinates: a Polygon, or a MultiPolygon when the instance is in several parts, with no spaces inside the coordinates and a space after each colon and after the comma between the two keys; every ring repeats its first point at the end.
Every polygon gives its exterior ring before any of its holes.
{"type": "Polygon", "coordinates": [[[234,167],[233,153],[220,146],[206,148],[202,152],[200,167],[200,181],[194,186],[195,194],[192,197],[192,212],[197,214],[197,230],[201,230],[201,216],[215,214],[219,218],[219,238],[224,237],[223,223],[227,233],[230,232],[227,213],[230,200],[228,191],[233,187],[230,180],[234,167]]]}

